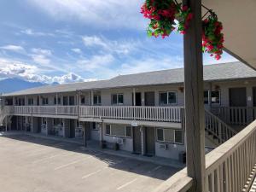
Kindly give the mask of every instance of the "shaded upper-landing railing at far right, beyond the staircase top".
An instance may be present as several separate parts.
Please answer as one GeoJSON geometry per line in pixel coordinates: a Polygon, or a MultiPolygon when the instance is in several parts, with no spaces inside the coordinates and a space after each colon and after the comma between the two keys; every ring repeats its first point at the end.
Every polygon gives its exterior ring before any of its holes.
{"type": "Polygon", "coordinates": [[[255,107],[214,107],[212,113],[230,125],[248,125],[256,119],[255,107]]]}

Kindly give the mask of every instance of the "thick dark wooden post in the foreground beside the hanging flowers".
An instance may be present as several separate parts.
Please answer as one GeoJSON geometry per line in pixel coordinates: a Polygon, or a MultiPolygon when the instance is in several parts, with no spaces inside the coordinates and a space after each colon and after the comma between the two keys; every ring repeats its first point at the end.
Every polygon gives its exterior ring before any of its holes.
{"type": "Polygon", "coordinates": [[[187,4],[194,15],[183,38],[187,169],[188,176],[193,178],[189,192],[205,192],[201,0],[183,0],[183,4],[187,4]]]}

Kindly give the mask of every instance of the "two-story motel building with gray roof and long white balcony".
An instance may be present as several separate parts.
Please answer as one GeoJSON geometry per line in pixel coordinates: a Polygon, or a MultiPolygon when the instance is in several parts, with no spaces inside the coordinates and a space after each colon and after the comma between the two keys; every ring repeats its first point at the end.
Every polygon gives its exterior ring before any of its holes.
{"type": "MultiPolygon", "coordinates": [[[[208,65],[204,81],[206,145],[216,147],[255,119],[256,72],[241,62],[208,65]]],[[[177,160],[185,151],[183,95],[183,68],[46,85],[3,95],[0,121],[8,131],[177,160]]]]}

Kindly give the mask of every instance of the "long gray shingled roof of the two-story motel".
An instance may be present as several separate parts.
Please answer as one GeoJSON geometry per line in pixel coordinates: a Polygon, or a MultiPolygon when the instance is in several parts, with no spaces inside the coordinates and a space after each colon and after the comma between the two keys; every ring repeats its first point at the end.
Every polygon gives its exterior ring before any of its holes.
{"type": "MultiPolygon", "coordinates": [[[[256,71],[241,62],[230,62],[204,66],[205,81],[225,81],[234,79],[256,78],[256,71]]],[[[113,79],[91,82],[57,84],[20,90],[3,96],[34,95],[42,93],[72,92],[76,90],[111,89],[118,87],[132,87],[159,84],[182,84],[184,80],[183,68],[162,71],[119,75],[113,79]]]]}

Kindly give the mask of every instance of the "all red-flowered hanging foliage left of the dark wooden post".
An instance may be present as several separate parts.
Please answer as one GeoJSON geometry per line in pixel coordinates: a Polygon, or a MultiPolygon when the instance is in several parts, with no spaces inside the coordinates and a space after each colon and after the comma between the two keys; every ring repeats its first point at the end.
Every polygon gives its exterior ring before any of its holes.
{"type": "Polygon", "coordinates": [[[155,38],[169,36],[176,29],[175,20],[179,20],[177,31],[185,33],[193,16],[187,6],[173,0],[146,0],[141,9],[144,17],[150,19],[148,36],[155,38]]]}

